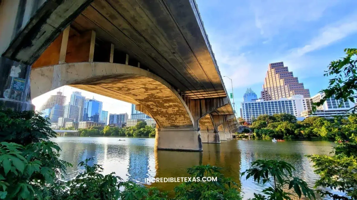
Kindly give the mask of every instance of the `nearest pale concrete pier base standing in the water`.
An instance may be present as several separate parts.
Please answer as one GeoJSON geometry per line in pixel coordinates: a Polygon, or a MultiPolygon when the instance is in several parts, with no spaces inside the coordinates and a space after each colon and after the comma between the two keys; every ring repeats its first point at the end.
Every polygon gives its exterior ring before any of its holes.
{"type": "Polygon", "coordinates": [[[154,148],[175,151],[202,151],[200,131],[197,128],[156,128],[154,148]]]}

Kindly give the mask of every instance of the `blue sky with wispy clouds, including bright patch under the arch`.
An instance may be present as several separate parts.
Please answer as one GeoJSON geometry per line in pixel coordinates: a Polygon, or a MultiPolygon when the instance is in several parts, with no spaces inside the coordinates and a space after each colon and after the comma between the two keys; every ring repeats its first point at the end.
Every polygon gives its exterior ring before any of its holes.
{"type": "MultiPolygon", "coordinates": [[[[284,62],[315,95],[327,87],[323,71],[344,48],[357,47],[356,0],[196,0],[222,76],[233,79],[235,102],[247,88],[260,97],[269,63],[284,62]]],[[[231,83],[223,78],[227,91],[231,83]]],[[[58,90],[32,102],[36,109],[58,90]]],[[[130,114],[130,104],[82,91],[104,101],[103,110],[130,114]]],[[[239,113],[239,112],[238,112],[239,113]]]]}

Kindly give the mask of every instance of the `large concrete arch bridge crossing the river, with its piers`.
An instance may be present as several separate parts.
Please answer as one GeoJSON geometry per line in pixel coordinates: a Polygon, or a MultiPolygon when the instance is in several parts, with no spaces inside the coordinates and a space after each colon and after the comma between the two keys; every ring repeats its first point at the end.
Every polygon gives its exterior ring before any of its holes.
{"type": "Polygon", "coordinates": [[[7,107],[34,109],[30,97],[70,85],[153,117],[157,149],[202,151],[202,142],[235,132],[194,0],[24,2],[0,3],[0,101],[7,107]]]}

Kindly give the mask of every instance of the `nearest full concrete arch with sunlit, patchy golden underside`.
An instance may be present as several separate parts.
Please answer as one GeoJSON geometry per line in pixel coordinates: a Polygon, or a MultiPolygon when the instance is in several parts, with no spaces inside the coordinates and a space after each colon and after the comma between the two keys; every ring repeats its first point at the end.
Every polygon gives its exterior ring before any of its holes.
{"type": "Polygon", "coordinates": [[[159,128],[193,128],[193,117],[181,96],[162,78],[125,64],[80,62],[31,70],[32,98],[64,85],[140,104],[159,128]]]}

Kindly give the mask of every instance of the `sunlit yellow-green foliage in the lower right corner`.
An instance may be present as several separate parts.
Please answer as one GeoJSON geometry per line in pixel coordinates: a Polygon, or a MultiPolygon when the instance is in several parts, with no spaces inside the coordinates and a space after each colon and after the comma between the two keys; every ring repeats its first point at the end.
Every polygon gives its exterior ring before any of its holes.
{"type": "Polygon", "coordinates": [[[321,195],[330,196],[332,199],[357,199],[357,115],[351,114],[347,120],[338,118],[331,122],[328,134],[336,137],[337,146],[334,147],[334,155],[308,156],[320,175],[315,187],[328,187],[345,193],[345,195],[333,194],[329,191],[318,190],[321,195]],[[342,124],[340,124],[342,123],[342,124]],[[350,141],[345,142],[346,138],[350,141]]]}

